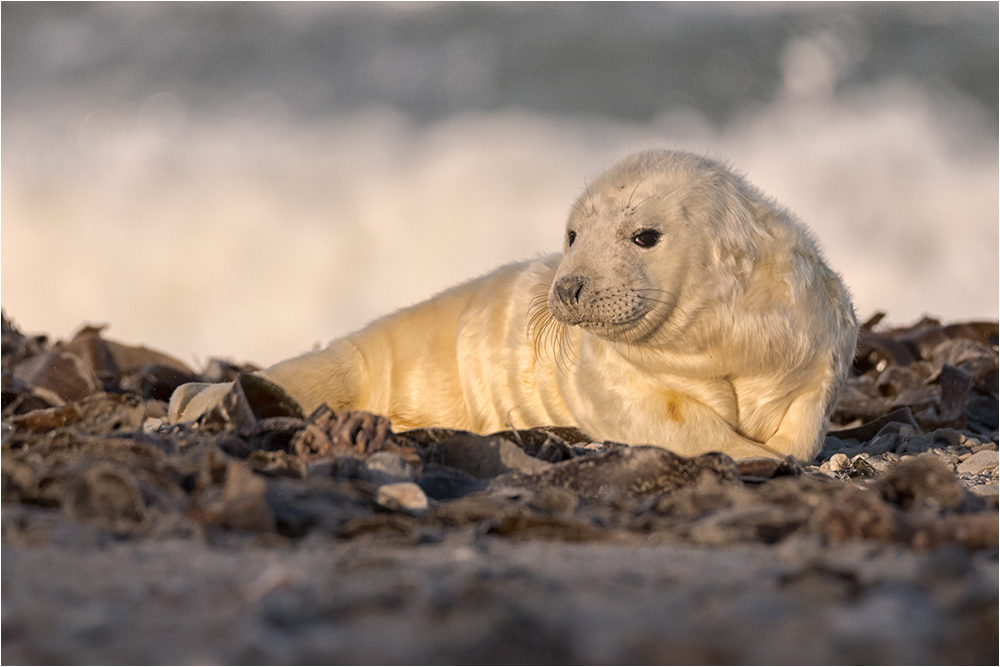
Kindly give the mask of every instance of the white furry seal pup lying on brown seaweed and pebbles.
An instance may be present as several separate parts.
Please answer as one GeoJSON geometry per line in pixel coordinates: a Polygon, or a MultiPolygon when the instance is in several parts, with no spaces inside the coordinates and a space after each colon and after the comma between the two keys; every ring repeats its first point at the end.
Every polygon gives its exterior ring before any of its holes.
{"type": "MultiPolygon", "coordinates": [[[[576,426],[734,458],[819,451],[857,341],[809,233],[724,165],[632,155],[573,205],[561,256],[512,264],[261,375],[396,430],[576,426]]],[[[174,421],[229,385],[184,385],[174,421]]]]}

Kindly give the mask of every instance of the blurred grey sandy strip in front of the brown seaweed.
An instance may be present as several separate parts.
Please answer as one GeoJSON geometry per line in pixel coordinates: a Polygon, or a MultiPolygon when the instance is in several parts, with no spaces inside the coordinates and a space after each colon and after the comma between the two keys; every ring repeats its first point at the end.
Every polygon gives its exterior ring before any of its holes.
{"type": "MultiPolygon", "coordinates": [[[[5,533],[18,511],[4,510],[5,533]]],[[[307,539],[3,549],[5,664],[989,664],[996,551],[307,539]]]]}

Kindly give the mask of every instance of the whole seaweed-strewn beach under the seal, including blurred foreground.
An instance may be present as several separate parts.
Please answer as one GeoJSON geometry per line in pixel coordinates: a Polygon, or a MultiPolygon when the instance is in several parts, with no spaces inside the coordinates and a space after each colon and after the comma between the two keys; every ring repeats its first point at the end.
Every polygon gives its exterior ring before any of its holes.
{"type": "Polygon", "coordinates": [[[5,319],[2,661],[996,664],[996,324],[873,326],[802,464],[397,434],[220,363],[170,425],[190,369],[5,319]]]}

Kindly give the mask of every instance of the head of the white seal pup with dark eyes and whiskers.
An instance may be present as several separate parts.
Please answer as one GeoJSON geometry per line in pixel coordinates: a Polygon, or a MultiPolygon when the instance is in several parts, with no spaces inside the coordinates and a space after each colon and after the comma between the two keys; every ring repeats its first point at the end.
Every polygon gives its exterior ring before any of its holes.
{"type": "Polygon", "coordinates": [[[693,292],[701,302],[712,291],[720,248],[748,240],[738,231],[745,221],[732,220],[746,210],[740,192],[730,172],[702,157],[626,158],[574,204],[549,311],[563,324],[629,343],[691,316],[679,311],[694,305],[693,292]]]}

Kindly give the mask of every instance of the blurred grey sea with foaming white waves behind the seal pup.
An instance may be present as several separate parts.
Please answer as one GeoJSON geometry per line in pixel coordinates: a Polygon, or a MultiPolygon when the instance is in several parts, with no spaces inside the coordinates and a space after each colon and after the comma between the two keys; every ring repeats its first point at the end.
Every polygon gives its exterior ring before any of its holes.
{"type": "Polygon", "coordinates": [[[997,3],[3,3],[2,306],[269,365],[512,261],[654,146],[860,317],[998,316],[997,3]]]}

